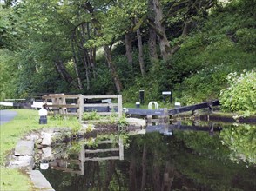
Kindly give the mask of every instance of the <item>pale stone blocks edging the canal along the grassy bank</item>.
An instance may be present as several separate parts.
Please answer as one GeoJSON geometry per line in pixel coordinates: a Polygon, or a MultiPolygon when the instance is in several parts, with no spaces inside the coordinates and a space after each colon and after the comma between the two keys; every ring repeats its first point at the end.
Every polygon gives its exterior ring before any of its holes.
{"type": "MultiPolygon", "coordinates": [[[[130,126],[136,126],[138,129],[145,127],[145,120],[138,120],[130,118],[127,120],[130,126]]],[[[88,125],[83,124],[80,134],[86,132],[88,125]]],[[[50,148],[51,147],[51,135],[56,133],[70,132],[72,128],[42,128],[37,132],[32,132],[29,135],[24,136],[23,139],[17,142],[13,152],[9,155],[9,161],[7,162],[8,168],[17,168],[24,170],[30,177],[30,181],[33,183],[34,188],[39,190],[54,191],[51,184],[39,170],[34,170],[35,166],[35,148],[50,148]],[[36,146],[36,147],[35,147],[36,146]]],[[[45,149],[43,153],[44,158],[50,157],[48,149],[45,149]]]]}

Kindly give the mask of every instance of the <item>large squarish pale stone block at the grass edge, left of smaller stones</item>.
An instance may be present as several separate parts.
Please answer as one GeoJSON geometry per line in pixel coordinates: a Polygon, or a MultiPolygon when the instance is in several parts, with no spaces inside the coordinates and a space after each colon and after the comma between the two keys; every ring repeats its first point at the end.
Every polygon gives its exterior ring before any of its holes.
{"type": "Polygon", "coordinates": [[[34,155],[34,142],[21,140],[17,142],[14,155],[34,155]]]}

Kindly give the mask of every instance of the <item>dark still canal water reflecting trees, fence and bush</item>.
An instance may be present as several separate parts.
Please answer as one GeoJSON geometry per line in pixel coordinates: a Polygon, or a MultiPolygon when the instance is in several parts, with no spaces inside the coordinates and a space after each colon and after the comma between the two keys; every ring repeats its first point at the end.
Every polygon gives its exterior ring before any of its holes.
{"type": "Polygon", "coordinates": [[[55,149],[41,172],[57,191],[256,190],[253,125],[155,122],[55,149]]]}

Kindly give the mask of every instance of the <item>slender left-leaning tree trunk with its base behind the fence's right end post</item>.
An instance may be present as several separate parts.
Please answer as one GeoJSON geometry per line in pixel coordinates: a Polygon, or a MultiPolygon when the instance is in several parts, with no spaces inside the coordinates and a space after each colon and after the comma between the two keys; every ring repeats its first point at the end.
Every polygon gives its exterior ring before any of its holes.
{"type": "Polygon", "coordinates": [[[107,45],[104,45],[104,55],[105,55],[105,58],[107,60],[108,66],[111,69],[111,76],[114,80],[116,89],[117,89],[118,94],[119,94],[122,90],[122,84],[119,80],[118,73],[116,71],[115,65],[114,65],[114,63],[112,63],[111,49],[107,45]]]}

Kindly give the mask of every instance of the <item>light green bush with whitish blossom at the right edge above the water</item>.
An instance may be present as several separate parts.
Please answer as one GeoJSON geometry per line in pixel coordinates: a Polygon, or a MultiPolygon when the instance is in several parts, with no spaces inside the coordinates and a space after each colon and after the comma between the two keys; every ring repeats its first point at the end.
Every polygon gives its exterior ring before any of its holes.
{"type": "Polygon", "coordinates": [[[250,71],[227,76],[229,87],[220,92],[222,108],[229,111],[256,111],[256,72],[250,71]]]}

